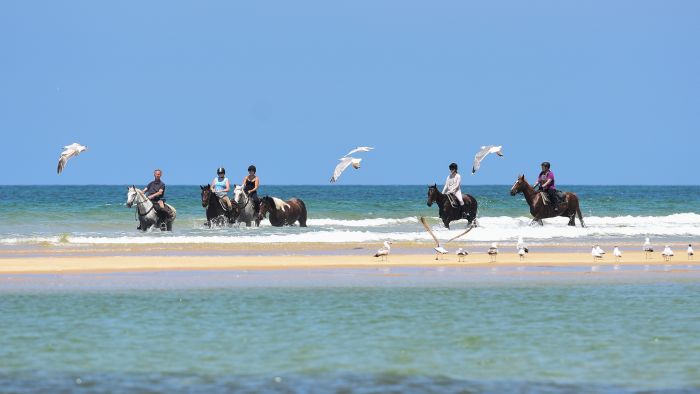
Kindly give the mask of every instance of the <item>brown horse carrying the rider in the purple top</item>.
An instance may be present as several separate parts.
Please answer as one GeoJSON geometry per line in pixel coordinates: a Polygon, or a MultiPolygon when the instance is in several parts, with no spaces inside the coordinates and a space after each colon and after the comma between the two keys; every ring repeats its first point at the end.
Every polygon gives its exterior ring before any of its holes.
{"type": "Polygon", "coordinates": [[[533,223],[539,223],[541,226],[542,219],[564,216],[569,218],[569,226],[576,226],[575,218],[576,215],[578,215],[581,227],[586,227],[583,223],[583,215],[581,215],[581,208],[579,207],[578,197],[575,193],[564,192],[564,198],[559,202],[559,212],[554,211],[552,203],[544,203],[542,194],[535,191],[535,189],[527,183],[525,175],[518,176],[518,180],[515,181],[513,187],[510,188],[511,196],[518,193],[523,193],[527,205],[530,206],[530,214],[533,216],[532,222],[530,222],[531,225],[533,223]]]}

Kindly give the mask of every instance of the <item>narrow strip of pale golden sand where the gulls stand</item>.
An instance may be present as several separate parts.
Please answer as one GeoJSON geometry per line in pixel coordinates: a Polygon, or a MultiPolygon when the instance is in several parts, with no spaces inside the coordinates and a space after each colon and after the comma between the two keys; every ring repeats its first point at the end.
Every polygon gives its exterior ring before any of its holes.
{"type": "MultiPolygon", "coordinates": [[[[133,272],[181,270],[272,270],[316,268],[371,268],[371,267],[432,267],[432,266],[593,266],[593,265],[688,265],[685,252],[677,253],[670,262],[660,253],[646,258],[643,252],[624,251],[617,262],[609,251],[602,260],[593,261],[588,251],[552,247],[546,252],[529,253],[524,260],[516,253],[502,252],[496,262],[484,253],[471,253],[459,262],[454,250],[435,260],[429,245],[406,245],[392,251],[387,261],[372,257],[375,245],[333,245],[320,247],[306,245],[257,245],[232,248],[211,246],[154,249],[153,246],[120,246],[108,248],[51,248],[12,249],[0,251],[0,274],[133,272]]],[[[508,248],[511,249],[511,248],[508,248]]],[[[547,250],[539,247],[540,250],[547,250]]]]}

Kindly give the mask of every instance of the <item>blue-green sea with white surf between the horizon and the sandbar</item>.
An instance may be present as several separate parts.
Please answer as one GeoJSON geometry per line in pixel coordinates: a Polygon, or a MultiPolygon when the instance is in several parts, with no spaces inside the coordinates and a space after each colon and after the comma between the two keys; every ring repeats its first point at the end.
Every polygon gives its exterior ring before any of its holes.
{"type": "MultiPolygon", "coordinates": [[[[700,236],[700,186],[564,186],[580,200],[587,228],[568,227],[566,218],[529,226],[527,204],[510,186],[465,186],[479,202],[480,227],[471,241],[506,241],[523,235],[531,242],[655,240],[692,242],[700,236]]],[[[308,228],[209,229],[203,226],[200,189],[169,186],[168,202],[178,211],[175,231],[136,230],[127,209],[126,186],[0,186],[0,245],[67,243],[264,243],[430,241],[417,216],[426,216],[439,237],[461,232],[466,222],[444,229],[437,208],[428,207],[427,185],[264,186],[261,195],[297,197],[309,211],[308,228]]]]}

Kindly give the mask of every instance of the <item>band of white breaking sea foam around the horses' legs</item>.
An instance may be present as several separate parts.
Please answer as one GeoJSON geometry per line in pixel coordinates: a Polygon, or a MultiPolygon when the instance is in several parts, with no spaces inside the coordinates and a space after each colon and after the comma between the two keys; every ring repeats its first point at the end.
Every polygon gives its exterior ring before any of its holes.
{"type": "MultiPolygon", "coordinates": [[[[438,218],[430,218],[436,236],[447,240],[464,231],[464,221],[453,222],[452,229],[442,226],[438,218]]],[[[668,216],[618,216],[584,218],[586,228],[567,226],[568,219],[546,219],[544,226],[529,226],[527,217],[483,217],[479,227],[472,230],[459,242],[493,242],[515,240],[523,236],[530,241],[584,241],[587,238],[638,239],[650,237],[700,237],[700,215],[679,213],[668,216]]],[[[80,234],[56,236],[7,236],[0,238],[0,245],[55,243],[55,244],[239,244],[239,243],[342,243],[425,241],[432,238],[422,229],[415,217],[400,219],[315,219],[309,228],[273,228],[269,224],[260,228],[239,229],[184,229],[178,233],[159,231],[141,234],[80,234]]],[[[641,242],[641,241],[640,241],[641,242]]]]}

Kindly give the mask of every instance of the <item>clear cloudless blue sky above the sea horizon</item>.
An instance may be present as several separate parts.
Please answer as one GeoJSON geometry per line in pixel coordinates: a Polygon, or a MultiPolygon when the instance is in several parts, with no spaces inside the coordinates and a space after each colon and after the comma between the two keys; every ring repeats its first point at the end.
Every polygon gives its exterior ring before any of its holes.
{"type": "Polygon", "coordinates": [[[5,1],[0,184],[698,184],[700,1],[5,1]],[[64,145],[89,151],[60,176],[64,145]],[[481,145],[503,145],[470,176],[481,145]]]}

